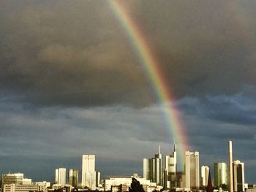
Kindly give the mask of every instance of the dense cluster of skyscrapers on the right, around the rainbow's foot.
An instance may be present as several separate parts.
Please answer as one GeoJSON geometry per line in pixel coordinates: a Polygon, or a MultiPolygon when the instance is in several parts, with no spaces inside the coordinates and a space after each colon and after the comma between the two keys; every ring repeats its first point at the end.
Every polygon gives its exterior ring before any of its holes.
{"type": "MultiPolygon", "coordinates": [[[[210,167],[200,166],[199,152],[186,151],[184,170],[178,172],[176,149],[177,147],[174,145],[173,153],[165,156],[165,167],[163,167],[160,149],[153,158],[144,158],[143,177],[157,183],[163,189],[175,189],[176,191],[199,191],[206,189],[210,167]]],[[[239,160],[231,160],[230,168],[224,162],[214,163],[214,183],[211,181],[211,184],[215,188],[220,188],[220,190],[224,191],[228,191],[230,185],[232,185],[233,191],[245,191],[248,185],[244,182],[244,163],[239,160]],[[229,174],[230,170],[232,174],[229,174]]]]}

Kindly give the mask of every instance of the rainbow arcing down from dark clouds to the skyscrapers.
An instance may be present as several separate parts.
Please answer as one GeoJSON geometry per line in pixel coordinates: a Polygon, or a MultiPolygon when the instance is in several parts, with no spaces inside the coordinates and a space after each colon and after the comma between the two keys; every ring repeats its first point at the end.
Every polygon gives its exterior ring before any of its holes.
{"type": "Polygon", "coordinates": [[[128,14],[126,7],[121,4],[121,1],[109,0],[108,2],[118,23],[120,23],[122,28],[124,28],[124,31],[126,31],[127,37],[132,43],[135,52],[138,54],[140,63],[143,65],[143,68],[151,81],[157,99],[159,103],[162,104],[162,112],[165,116],[166,126],[168,130],[170,130],[170,136],[176,139],[179,154],[178,157],[179,160],[182,161],[183,158],[181,157],[184,155],[184,151],[187,149],[186,147],[189,146],[187,133],[178,117],[178,110],[176,110],[172,103],[172,94],[165,81],[163,73],[159,69],[157,57],[152,53],[151,47],[146,40],[146,35],[142,34],[135,20],[132,20],[128,14]]]}

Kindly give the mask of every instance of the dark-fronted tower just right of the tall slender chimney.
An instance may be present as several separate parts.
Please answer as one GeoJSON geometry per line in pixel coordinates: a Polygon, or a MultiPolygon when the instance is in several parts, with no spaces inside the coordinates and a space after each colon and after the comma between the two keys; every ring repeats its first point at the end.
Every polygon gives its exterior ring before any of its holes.
{"type": "Polygon", "coordinates": [[[234,191],[244,191],[244,163],[236,160],[233,162],[234,191]]]}

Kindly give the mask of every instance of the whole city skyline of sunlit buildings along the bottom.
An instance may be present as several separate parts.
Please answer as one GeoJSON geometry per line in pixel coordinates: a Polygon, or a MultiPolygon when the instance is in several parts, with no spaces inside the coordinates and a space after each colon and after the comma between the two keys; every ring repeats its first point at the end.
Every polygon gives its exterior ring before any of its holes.
{"type": "MultiPolygon", "coordinates": [[[[244,192],[248,185],[244,182],[244,163],[233,161],[232,142],[229,142],[230,161],[214,163],[214,180],[209,180],[210,167],[200,166],[199,152],[186,151],[184,170],[177,170],[177,146],[165,159],[159,151],[152,158],[143,159],[143,177],[108,176],[100,180],[100,173],[95,169],[95,155],[82,155],[82,172],[79,169],[61,167],[55,170],[55,182],[33,183],[24,178],[22,173],[2,174],[2,192],[70,192],[70,191],[129,191],[132,177],[140,182],[144,191],[205,191],[211,183],[219,191],[244,192]],[[164,161],[163,161],[164,160],[164,161]],[[165,166],[163,166],[165,165],[165,166]],[[81,175],[81,180],[79,180],[81,175]]],[[[256,187],[256,186],[255,186],[256,187]]],[[[0,191],[0,192],[1,192],[0,191]]],[[[249,191],[249,189],[247,190],[249,191]]],[[[256,192],[249,191],[249,192],[256,192]]]]}

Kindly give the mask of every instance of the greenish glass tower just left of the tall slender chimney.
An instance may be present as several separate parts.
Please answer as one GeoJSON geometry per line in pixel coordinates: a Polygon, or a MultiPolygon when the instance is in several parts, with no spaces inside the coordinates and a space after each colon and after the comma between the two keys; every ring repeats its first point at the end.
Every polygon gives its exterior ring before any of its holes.
{"type": "Polygon", "coordinates": [[[219,188],[222,184],[228,184],[227,164],[214,163],[214,186],[219,188]]]}

